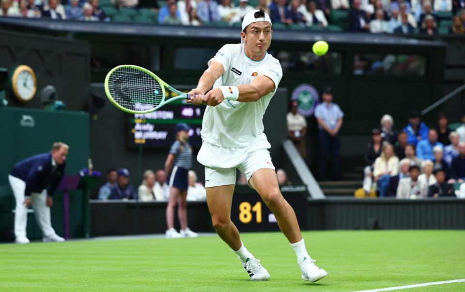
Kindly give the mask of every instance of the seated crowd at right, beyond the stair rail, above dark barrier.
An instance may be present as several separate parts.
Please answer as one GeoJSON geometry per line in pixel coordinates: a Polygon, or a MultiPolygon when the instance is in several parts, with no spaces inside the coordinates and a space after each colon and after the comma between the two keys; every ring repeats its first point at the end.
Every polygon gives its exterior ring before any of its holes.
{"type": "Polygon", "coordinates": [[[454,130],[445,114],[429,128],[418,112],[410,114],[400,132],[393,126],[386,114],[381,129],[372,130],[365,152],[365,194],[410,199],[465,195],[465,114],[454,130]]]}

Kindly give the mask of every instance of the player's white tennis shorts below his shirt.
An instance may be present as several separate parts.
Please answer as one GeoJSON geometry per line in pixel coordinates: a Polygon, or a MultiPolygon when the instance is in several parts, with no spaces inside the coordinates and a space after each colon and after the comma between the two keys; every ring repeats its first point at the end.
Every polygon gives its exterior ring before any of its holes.
{"type": "Polygon", "coordinates": [[[217,187],[236,183],[236,168],[246,177],[261,168],[275,166],[271,162],[271,147],[266,138],[259,139],[248,147],[220,147],[203,142],[197,161],[205,166],[205,187],[217,187]]]}

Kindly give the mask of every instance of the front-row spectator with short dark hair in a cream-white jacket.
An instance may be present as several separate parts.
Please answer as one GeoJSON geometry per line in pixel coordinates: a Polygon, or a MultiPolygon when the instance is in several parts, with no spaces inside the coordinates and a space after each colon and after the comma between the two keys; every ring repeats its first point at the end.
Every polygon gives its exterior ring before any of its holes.
{"type": "Polygon", "coordinates": [[[399,181],[399,186],[397,187],[398,199],[417,199],[424,198],[428,195],[428,186],[418,180],[420,174],[420,169],[417,165],[410,166],[409,170],[410,177],[402,178],[399,181]]]}

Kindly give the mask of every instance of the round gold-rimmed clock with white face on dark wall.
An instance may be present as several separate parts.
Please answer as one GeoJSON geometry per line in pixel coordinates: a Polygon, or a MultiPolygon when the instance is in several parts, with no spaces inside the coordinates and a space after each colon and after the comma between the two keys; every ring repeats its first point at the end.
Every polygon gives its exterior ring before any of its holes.
{"type": "Polygon", "coordinates": [[[37,92],[35,73],[28,65],[19,65],[13,69],[10,84],[13,94],[21,102],[31,101],[37,92]]]}

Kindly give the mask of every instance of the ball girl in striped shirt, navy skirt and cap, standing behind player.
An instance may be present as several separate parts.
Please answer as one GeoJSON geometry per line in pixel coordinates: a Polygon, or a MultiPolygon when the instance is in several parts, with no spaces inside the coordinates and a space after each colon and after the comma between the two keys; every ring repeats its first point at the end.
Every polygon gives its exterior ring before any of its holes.
{"type": "Polygon", "coordinates": [[[166,207],[166,237],[196,237],[197,233],[187,227],[187,173],[192,167],[192,147],[189,139],[189,126],[185,123],[176,125],[176,141],[171,146],[165,162],[165,171],[169,173],[170,199],[166,207]],[[174,229],[174,208],[178,206],[180,232],[174,229]]]}

